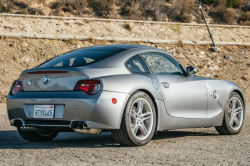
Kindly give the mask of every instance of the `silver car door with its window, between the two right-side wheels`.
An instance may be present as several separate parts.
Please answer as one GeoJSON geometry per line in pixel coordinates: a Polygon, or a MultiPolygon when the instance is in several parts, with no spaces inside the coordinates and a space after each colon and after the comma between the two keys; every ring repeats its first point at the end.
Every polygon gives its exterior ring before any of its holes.
{"type": "Polygon", "coordinates": [[[183,67],[166,54],[151,52],[141,56],[160,83],[165,108],[170,116],[207,118],[207,89],[202,78],[186,76],[183,67]]]}

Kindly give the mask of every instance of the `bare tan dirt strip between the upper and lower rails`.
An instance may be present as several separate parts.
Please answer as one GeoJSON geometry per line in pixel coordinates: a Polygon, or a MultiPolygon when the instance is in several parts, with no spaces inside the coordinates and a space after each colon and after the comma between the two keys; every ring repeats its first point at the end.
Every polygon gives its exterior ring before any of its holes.
{"type": "MultiPolygon", "coordinates": [[[[215,42],[250,42],[250,28],[210,27],[215,42]]],[[[206,26],[0,16],[0,33],[210,41],[206,26]]]]}

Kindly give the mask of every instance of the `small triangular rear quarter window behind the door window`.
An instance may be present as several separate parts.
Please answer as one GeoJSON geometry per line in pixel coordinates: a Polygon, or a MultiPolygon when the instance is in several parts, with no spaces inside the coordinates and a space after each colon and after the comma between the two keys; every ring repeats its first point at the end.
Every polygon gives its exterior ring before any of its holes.
{"type": "Polygon", "coordinates": [[[149,70],[140,55],[130,58],[125,65],[132,73],[149,73],[149,70]]]}

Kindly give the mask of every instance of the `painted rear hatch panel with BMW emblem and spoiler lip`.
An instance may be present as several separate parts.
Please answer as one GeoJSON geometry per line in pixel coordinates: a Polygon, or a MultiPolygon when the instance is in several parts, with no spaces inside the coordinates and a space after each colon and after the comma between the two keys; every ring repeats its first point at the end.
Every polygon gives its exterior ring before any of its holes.
{"type": "Polygon", "coordinates": [[[79,68],[26,70],[20,75],[24,91],[73,91],[79,80],[89,77],[79,68]]]}

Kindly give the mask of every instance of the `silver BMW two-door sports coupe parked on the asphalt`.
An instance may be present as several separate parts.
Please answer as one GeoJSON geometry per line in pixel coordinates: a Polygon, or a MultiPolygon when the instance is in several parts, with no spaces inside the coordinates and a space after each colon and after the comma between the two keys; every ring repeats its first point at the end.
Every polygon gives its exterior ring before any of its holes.
{"type": "Polygon", "coordinates": [[[33,142],[70,131],[111,132],[129,146],[145,145],[159,130],[215,126],[220,134],[238,134],[241,89],[196,73],[147,46],[75,50],[21,73],[7,98],[10,124],[33,142]]]}

